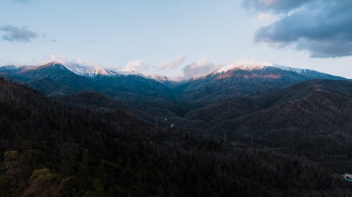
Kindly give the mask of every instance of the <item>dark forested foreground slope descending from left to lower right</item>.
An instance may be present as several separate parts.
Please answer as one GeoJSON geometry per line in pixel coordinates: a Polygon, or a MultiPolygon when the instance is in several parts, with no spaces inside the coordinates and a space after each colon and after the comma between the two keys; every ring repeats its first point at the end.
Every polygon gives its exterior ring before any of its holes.
{"type": "Polygon", "coordinates": [[[1,196],[351,196],[295,152],[156,128],[0,79],[1,196]]]}

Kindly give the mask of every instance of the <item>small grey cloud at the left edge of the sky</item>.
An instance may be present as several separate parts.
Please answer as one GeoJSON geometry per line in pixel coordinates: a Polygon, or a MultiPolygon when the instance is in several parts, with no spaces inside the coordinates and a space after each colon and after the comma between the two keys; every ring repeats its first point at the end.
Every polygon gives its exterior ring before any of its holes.
{"type": "Polygon", "coordinates": [[[15,27],[13,25],[0,26],[3,32],[2,39],[6,41],[30,42],[37,38],[38,34],[28,30],[26,27],[15,27]]]}

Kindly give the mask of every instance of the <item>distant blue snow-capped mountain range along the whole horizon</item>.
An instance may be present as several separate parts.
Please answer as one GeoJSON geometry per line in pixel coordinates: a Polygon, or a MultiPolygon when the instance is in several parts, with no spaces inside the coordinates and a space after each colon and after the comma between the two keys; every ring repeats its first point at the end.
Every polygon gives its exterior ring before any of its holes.
{"type": "Polygon", "coordinates": [[[133,96],[167,97],[184,102],[221,100],[239,95],[258,95],[310,79],[343,80],[339,76],[323,74],[310,69],[294,69],[278,65],[247,64],[218,69],[206,76],[186,81],[174,81],[158,74],[143,75],[120,72],[116,69],[84,67],[81,64],[49,62],[42,66],[3,66],[0,74],[20,83],[37,87],[46,95],[70,95],[80,90],[116,97],[118,100],[133,96]],[[156,96],[153,96],[156,95],[156,96]]]}

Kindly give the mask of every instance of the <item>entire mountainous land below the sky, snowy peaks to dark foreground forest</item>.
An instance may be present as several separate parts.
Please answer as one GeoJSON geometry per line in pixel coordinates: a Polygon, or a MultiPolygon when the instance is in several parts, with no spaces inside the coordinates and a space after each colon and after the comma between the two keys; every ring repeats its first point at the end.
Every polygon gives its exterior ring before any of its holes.
{"type": "Polygon", "coordinates": [[[351,191],[337,177],[352,171],[349,79],[244,64],[175,81],[58,62],[0,76],[5,196],[351,191]]]}

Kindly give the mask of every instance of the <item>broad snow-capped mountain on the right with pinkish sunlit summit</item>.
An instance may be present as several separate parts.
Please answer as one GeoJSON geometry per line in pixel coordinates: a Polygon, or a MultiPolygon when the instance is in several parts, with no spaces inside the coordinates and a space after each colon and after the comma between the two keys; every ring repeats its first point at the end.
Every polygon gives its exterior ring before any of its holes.
{"type": "Polygon", "coordinates": [[[187,82],[182,100],[203,102],[227,97],[260,95],[311,79],[343,80],[310,69],[296,69],[277,64],[231,64],[187,82]]]}

